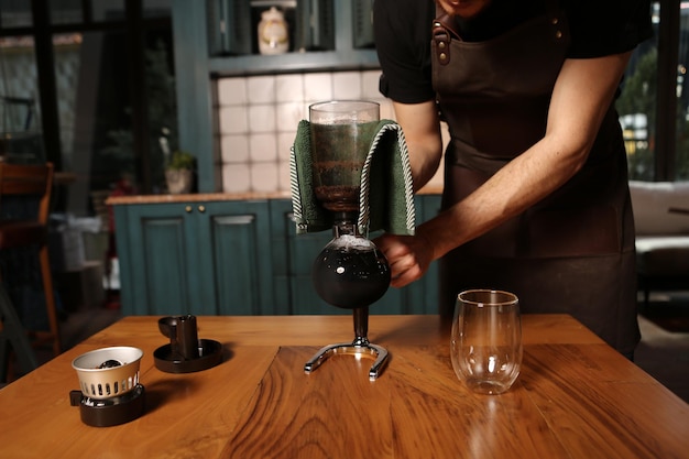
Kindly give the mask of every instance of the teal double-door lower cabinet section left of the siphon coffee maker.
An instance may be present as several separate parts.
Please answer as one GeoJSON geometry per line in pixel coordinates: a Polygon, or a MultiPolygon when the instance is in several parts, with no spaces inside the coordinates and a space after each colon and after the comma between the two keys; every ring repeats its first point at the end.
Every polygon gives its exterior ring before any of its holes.
{"type": "Polygon", "coordinates": [[[113,208],[123,314],[277,313],[267,200],[113,208]]]}

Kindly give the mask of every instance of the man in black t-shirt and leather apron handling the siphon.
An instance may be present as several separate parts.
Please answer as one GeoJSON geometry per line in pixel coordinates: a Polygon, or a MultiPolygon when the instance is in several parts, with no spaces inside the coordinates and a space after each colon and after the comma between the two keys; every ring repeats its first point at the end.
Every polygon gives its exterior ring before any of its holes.
{"type": "Polygon", "coordinates": [[[614,98],[652,34],[647,0],[376,0],[381,91],[444,210],[384,234],[392,285],[440,259],[440,314],[464,288],[572,314],[621,352],[638,342],[634,231],[614,98]]]}

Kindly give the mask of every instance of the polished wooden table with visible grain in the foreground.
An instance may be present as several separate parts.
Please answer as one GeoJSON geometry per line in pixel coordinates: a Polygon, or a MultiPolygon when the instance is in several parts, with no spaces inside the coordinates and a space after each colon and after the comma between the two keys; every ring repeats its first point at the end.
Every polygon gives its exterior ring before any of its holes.
{"type": "Polygon", "coordinates": [[[127,317],[0,391],[0,458],[687,458],[689,405],[569,316],[523,317],[524,363],[503,395],[456,378],[436,316],[372,316],[369,338],[391,352],[336,356],[349,316],[198,317],[223,362],[198,373],[157,370],[157,317],[127,317]],[[144,351],[145,414],[90,427],[68,393],[70,362],[108,346],[144,351]]]}

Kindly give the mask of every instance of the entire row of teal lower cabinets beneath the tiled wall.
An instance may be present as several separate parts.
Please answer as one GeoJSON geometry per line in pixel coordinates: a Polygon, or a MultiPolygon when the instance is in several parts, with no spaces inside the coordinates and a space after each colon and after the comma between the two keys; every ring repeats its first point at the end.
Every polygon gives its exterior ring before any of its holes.
{"type": "MultiPolygon", "coordinates": [[[[114,200],[123,314],[350,314],[311,284],[330,231],[297,236],[289,199],[179,199],[114,200]]],[[[417,222],[437,214],[439,196],[415,199],[417,222]]],[[[434,263],[422,280],[390,288],[371,314],[436,314],[436,270],[434,263]]]]}

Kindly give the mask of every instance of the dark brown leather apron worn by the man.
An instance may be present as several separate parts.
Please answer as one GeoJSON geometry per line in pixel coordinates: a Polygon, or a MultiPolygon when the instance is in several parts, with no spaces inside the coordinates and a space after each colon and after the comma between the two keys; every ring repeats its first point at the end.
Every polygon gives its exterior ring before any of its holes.
{"type": "MultiPolygon", "coordinates": [[[[442,206],[543,138],[569,30],[557,8],[485,42],[434,22],[433,81],[450,130],[442,206]]],[[[626,155],[611,106],[582,170],[523,215],[439,262],[440,314],[467,288],[514,292],[523,313],[571,314],[631,354],[638,342],[626,155]]]]}

